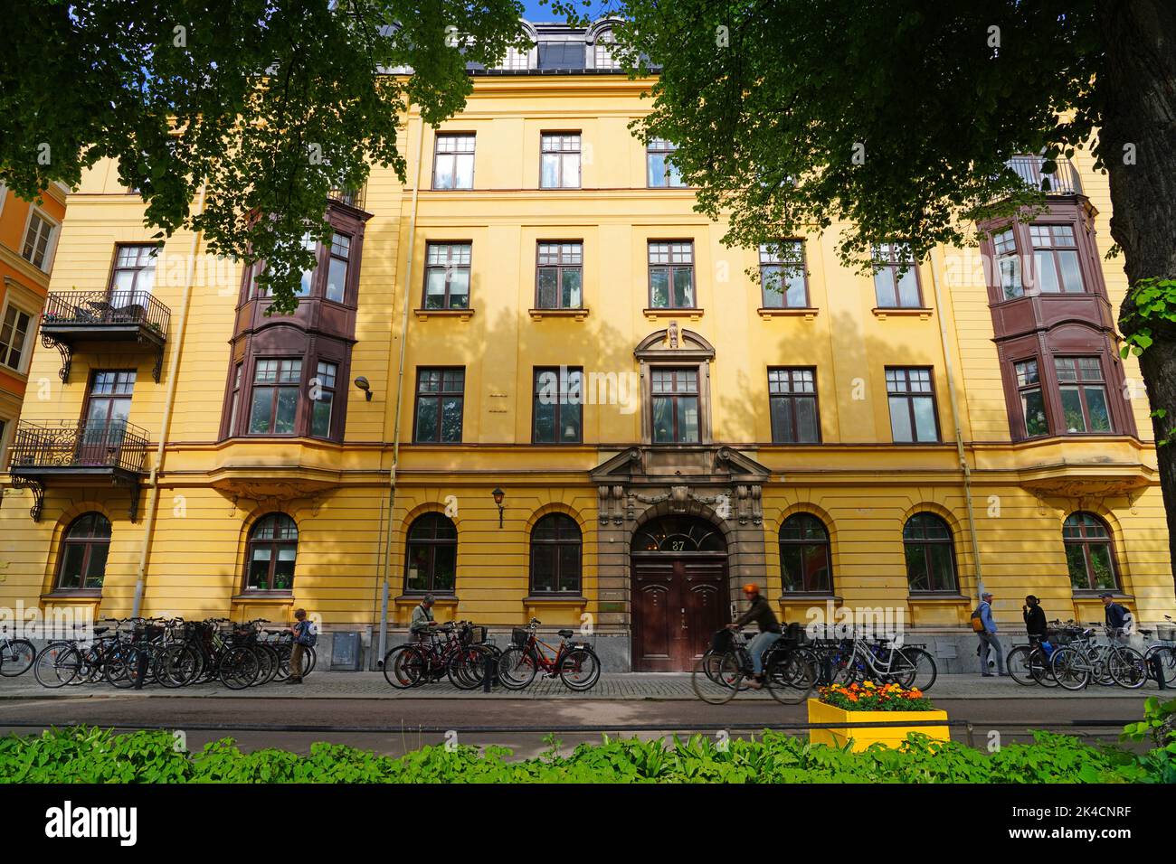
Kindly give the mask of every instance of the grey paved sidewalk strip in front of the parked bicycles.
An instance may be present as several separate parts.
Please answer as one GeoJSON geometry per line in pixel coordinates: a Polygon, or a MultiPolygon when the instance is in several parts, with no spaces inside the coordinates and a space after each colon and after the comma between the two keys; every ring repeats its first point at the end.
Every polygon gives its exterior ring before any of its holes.
{"type": "MultiPolygon", "coordinates": [[[[1176,698],[1176,690],[1161,692],[1154,681],[1149,681],[1140,690],[1124,690],[1121,686],[1091,685],[1078,692],[1062,688],[1023,686],[1013,678],[982,678],[980,675],[941,675],[927,694],[935,699],[1089,699],[1089,698],[1130,698],[1143,695],[1158,695],[1164,698],[1176,698]]],[[[557,678],[536,677],[526,690],[507,690],[496,686],[489,694],[476,690],[459,690],[448,681],[423,684],[409,690],[396,690],[385,679],[381,672],[312,672],[301,685],[273,682],[262,686],[250,686],[245,690],[229,690],[219,682],[215,684],[194,684],[176,689],[148,684],[142,690],[119,689],[106,682],[99,684],[80,684],[48,689],[36,683],[33,674],[26,672],[19,678],[0,678],[0,701],[4,699],[45,699],[45,698],[83,698],[89,696],[125,696],[145,698],[198,697],[198,698],[305,698],[305,699],[683,699],[696,702],[690,688],[690,676],[687,672],[604,672],[600,682],[588,692],[573,692],[557,678]]],[[[766,691],[741,692],[736,699],[771,701],[766,691]]]]}

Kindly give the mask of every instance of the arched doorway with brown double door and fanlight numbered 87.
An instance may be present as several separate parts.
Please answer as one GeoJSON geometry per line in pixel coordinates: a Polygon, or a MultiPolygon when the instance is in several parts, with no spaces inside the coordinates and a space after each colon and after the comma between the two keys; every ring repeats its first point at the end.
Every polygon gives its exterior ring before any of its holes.
{"type": "Polygon", "coordinates": [[[728,622],[727,541],[699,516],[662,516],[633,535],[633,670],[694,667],[728,622]]]}

